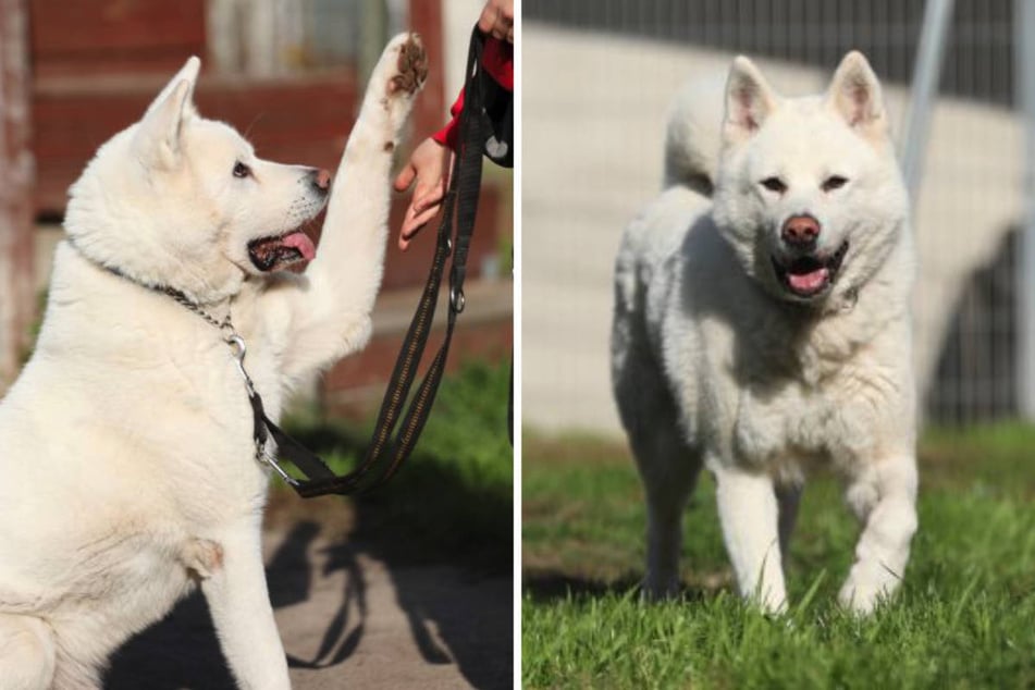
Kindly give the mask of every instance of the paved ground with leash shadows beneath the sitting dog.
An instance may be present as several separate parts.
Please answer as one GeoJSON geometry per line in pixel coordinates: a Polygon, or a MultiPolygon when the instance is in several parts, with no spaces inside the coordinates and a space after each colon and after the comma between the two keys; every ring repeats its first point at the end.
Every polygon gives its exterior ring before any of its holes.
{"type": "MultiPolygon", "coordinates": [[[[295,690],[512,687],[510,577],[395,563],[384,555],[395,549],[344,540],[328,519],[333,514],[319,516],[322,526],[301,520],[266,533],[271,600],[295,690]]],[[[104,687],[234,688],[204,600],[190,596],[132,640],[104,687]]]]}

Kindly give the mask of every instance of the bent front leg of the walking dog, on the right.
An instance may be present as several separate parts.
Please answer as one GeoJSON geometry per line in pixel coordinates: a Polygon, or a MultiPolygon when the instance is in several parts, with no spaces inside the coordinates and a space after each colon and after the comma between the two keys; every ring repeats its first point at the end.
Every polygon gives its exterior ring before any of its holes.
{"type": "Polygon", "coordinates": [[[916,532],[916,481],[911,453],[868,465],[852,478],[848,504],[863,531],[839,595],[842,605],[867,614],[898,588],[916,532]]]}

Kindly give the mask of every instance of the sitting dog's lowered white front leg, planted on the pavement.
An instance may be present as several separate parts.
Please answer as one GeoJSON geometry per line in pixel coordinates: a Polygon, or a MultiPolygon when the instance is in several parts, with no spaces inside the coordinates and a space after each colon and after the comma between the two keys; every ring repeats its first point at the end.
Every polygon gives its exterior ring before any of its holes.
{"type": "Polygon", "coordinates": [[[257,522],[195,540],[184,560],[201,580],[220,646],[244,690],[285,690],[287,660],[266,586],[257,522]]]}

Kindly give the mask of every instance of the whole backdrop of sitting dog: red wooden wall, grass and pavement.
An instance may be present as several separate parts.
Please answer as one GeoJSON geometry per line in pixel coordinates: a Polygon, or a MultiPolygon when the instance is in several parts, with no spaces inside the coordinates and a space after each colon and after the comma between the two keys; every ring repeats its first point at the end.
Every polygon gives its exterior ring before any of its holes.
{"type": "MultiPolygon", "coordinates": [[[[202,115],[234,125],[262,158],[334,171],[387,38],[419,32],[430,76],[398,169],[448,120],[483,4],[0,0],[0,391],[32,350],[69,185],[187,57],[202,59],[202,115]]],[[[295,688],[512,687],[512,187],[510,171],[485,165],[467,308],[407,466],[345,501],[301,501],[272,482],[263,549],[295,688]]],[[[408,198],[393,197],[370,346],[315,381],[285,422],[338,471],[366,448],[430,267],[438,220],[396,248],[408,198]]],[[[429,350],[438,345],[432,334],[429,350]]],[[[104,687],[234,687],[200,596],[123,648],[104,687]]]]}

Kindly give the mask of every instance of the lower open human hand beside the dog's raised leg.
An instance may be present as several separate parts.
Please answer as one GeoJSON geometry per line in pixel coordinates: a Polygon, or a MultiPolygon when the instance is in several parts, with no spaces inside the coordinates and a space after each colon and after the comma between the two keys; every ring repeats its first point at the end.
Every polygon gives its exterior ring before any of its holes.
{"type": "Polygon", "coordinates": [[[424,224],[438,214],[449,184],[452,162],[453,151],[428,137],[414,149],[406,167],[396,176],[395,189],[398,192],[406,192],[417,181],[399,230],[399,249],[403,251],[409,248],[410,239],[424,224]]]}

